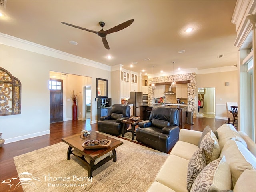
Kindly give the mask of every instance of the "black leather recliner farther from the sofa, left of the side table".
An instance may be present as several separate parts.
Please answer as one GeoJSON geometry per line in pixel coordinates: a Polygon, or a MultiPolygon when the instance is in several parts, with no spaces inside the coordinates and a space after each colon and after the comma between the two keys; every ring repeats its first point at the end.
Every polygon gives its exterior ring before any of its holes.
{"type": "MultiPolygon", "coordinates": [[[[114,104],[110,110],[110,115],[100,117],[98,121],[98,131],[111,135],[122,134],[122,120],[130,118],[130,106],[114,104]]],[[[129,124],[125,124],[127,130],[129,124]]]]}

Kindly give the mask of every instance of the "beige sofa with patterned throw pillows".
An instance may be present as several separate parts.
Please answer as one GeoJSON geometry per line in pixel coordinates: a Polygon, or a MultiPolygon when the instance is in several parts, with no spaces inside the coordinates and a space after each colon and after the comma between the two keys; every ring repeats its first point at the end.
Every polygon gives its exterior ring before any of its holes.
{"type": "Polygon", "coordinates": [[[231,124],[215,134],[209,126],[203,132],[181,129],[148,192],[188,190],[255,192],[256,144],[231,124]]]}

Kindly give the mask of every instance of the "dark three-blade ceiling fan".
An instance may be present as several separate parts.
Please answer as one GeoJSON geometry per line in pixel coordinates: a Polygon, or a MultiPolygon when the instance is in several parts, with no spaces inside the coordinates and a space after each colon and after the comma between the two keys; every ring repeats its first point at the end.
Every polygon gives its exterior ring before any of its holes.
{"type": "Polygon", "coordinates": [[[109,49],[109,45],[108,45],[108,42],[107,42],[107,39],[106,39],[106,36],[107,34],[110,34],[110,33],[114,33],[114,32],[117,32],[117,31],[120,31],[128,26],[130,26],[130,24],[132,24],[132,22],[134,21],[134,19],[130,19],[126,22],[123,22],[109,30],[106,30],[104,31],[103,30],[103,27],[105,26],[105,23],[103,21],[100,21],[99,24],[101,26],[101,30],[100,31],[93,31],[93,30],[90,30],[90,29],[86,29],[86,28],[83,28],[83,27],[79,27],[79,26],[76,26],[76,25],[72,25],[72,24],[69,24],[69,23],[65,23],[65,22],[61,22],[65,25],[69,25],[69,26],[72,26],[72,27],[75,27],[75,28],[78,28],[78,29],[82,29],[82,30],[86,30],[86,31],[89,31],[89,32],[92,32],[92,33],[96,33],[98,36],[100,36],[102,38],[102,42],[105,46],[106,49],[109,49]]]}

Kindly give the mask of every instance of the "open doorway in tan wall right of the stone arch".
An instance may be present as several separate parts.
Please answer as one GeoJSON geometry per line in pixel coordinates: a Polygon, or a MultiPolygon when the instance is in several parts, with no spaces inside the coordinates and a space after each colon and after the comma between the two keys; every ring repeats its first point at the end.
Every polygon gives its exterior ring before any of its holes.
{"type": "Polygon", "coordinates": [[[215,118],[215,87],[198,88],[199,117],[215,118]]]}

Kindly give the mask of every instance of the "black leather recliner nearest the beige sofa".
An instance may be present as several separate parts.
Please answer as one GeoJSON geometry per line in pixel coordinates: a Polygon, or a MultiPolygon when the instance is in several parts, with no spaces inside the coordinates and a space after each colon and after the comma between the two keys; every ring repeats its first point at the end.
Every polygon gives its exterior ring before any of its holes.
{"type": "Polygon", "coordinates": [[[153,107],[149,120],[139,122],[136,140],[167,153],[179,139],[179,119],[176,108],[153,107]]]}

